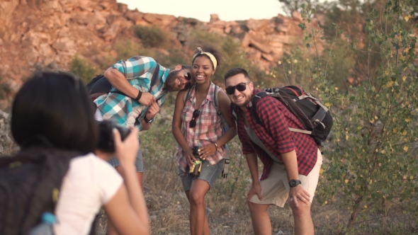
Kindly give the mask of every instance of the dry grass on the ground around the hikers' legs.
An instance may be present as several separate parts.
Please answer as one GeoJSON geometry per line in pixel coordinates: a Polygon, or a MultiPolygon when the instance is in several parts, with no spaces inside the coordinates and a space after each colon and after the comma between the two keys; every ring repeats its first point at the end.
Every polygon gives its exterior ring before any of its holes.
{"type": "MultiPolygon", "coordinates": [[[[152,130],[142,133],[145,200],[152,234],[189,234],[189,205],[177,176],[176,143],[170,131],[170,118],[159,118],[152,130]]],[[[17,151],[16,144],[10,139],[9,122],[10,118],[0,117],[2,154],[17,151]]],[[[230,174],[226,179],[219,178],[205,197],[210,231],[211,234],[253,234],[244,202],[249,189],[247,162],[240,154],[237,138],[230,146],[230,174]]],[[[365,211],[350,234],[418,234],[417,222],[404,213],[406,206],[407,202],[383,203],[381,210],[365,211]]],[[[283,208],[270,207],[269,214],[273,234],[293,234],[293,215],[288,204],[283,208]]],[[[315,234],[344,234],[349,216],[349,210],[341,205],[338,197],[327,205],[317,200],[312,204],[315,234]]],[[[106,234],[103,210],[96,222],[96,234],[106,234]]]]}

